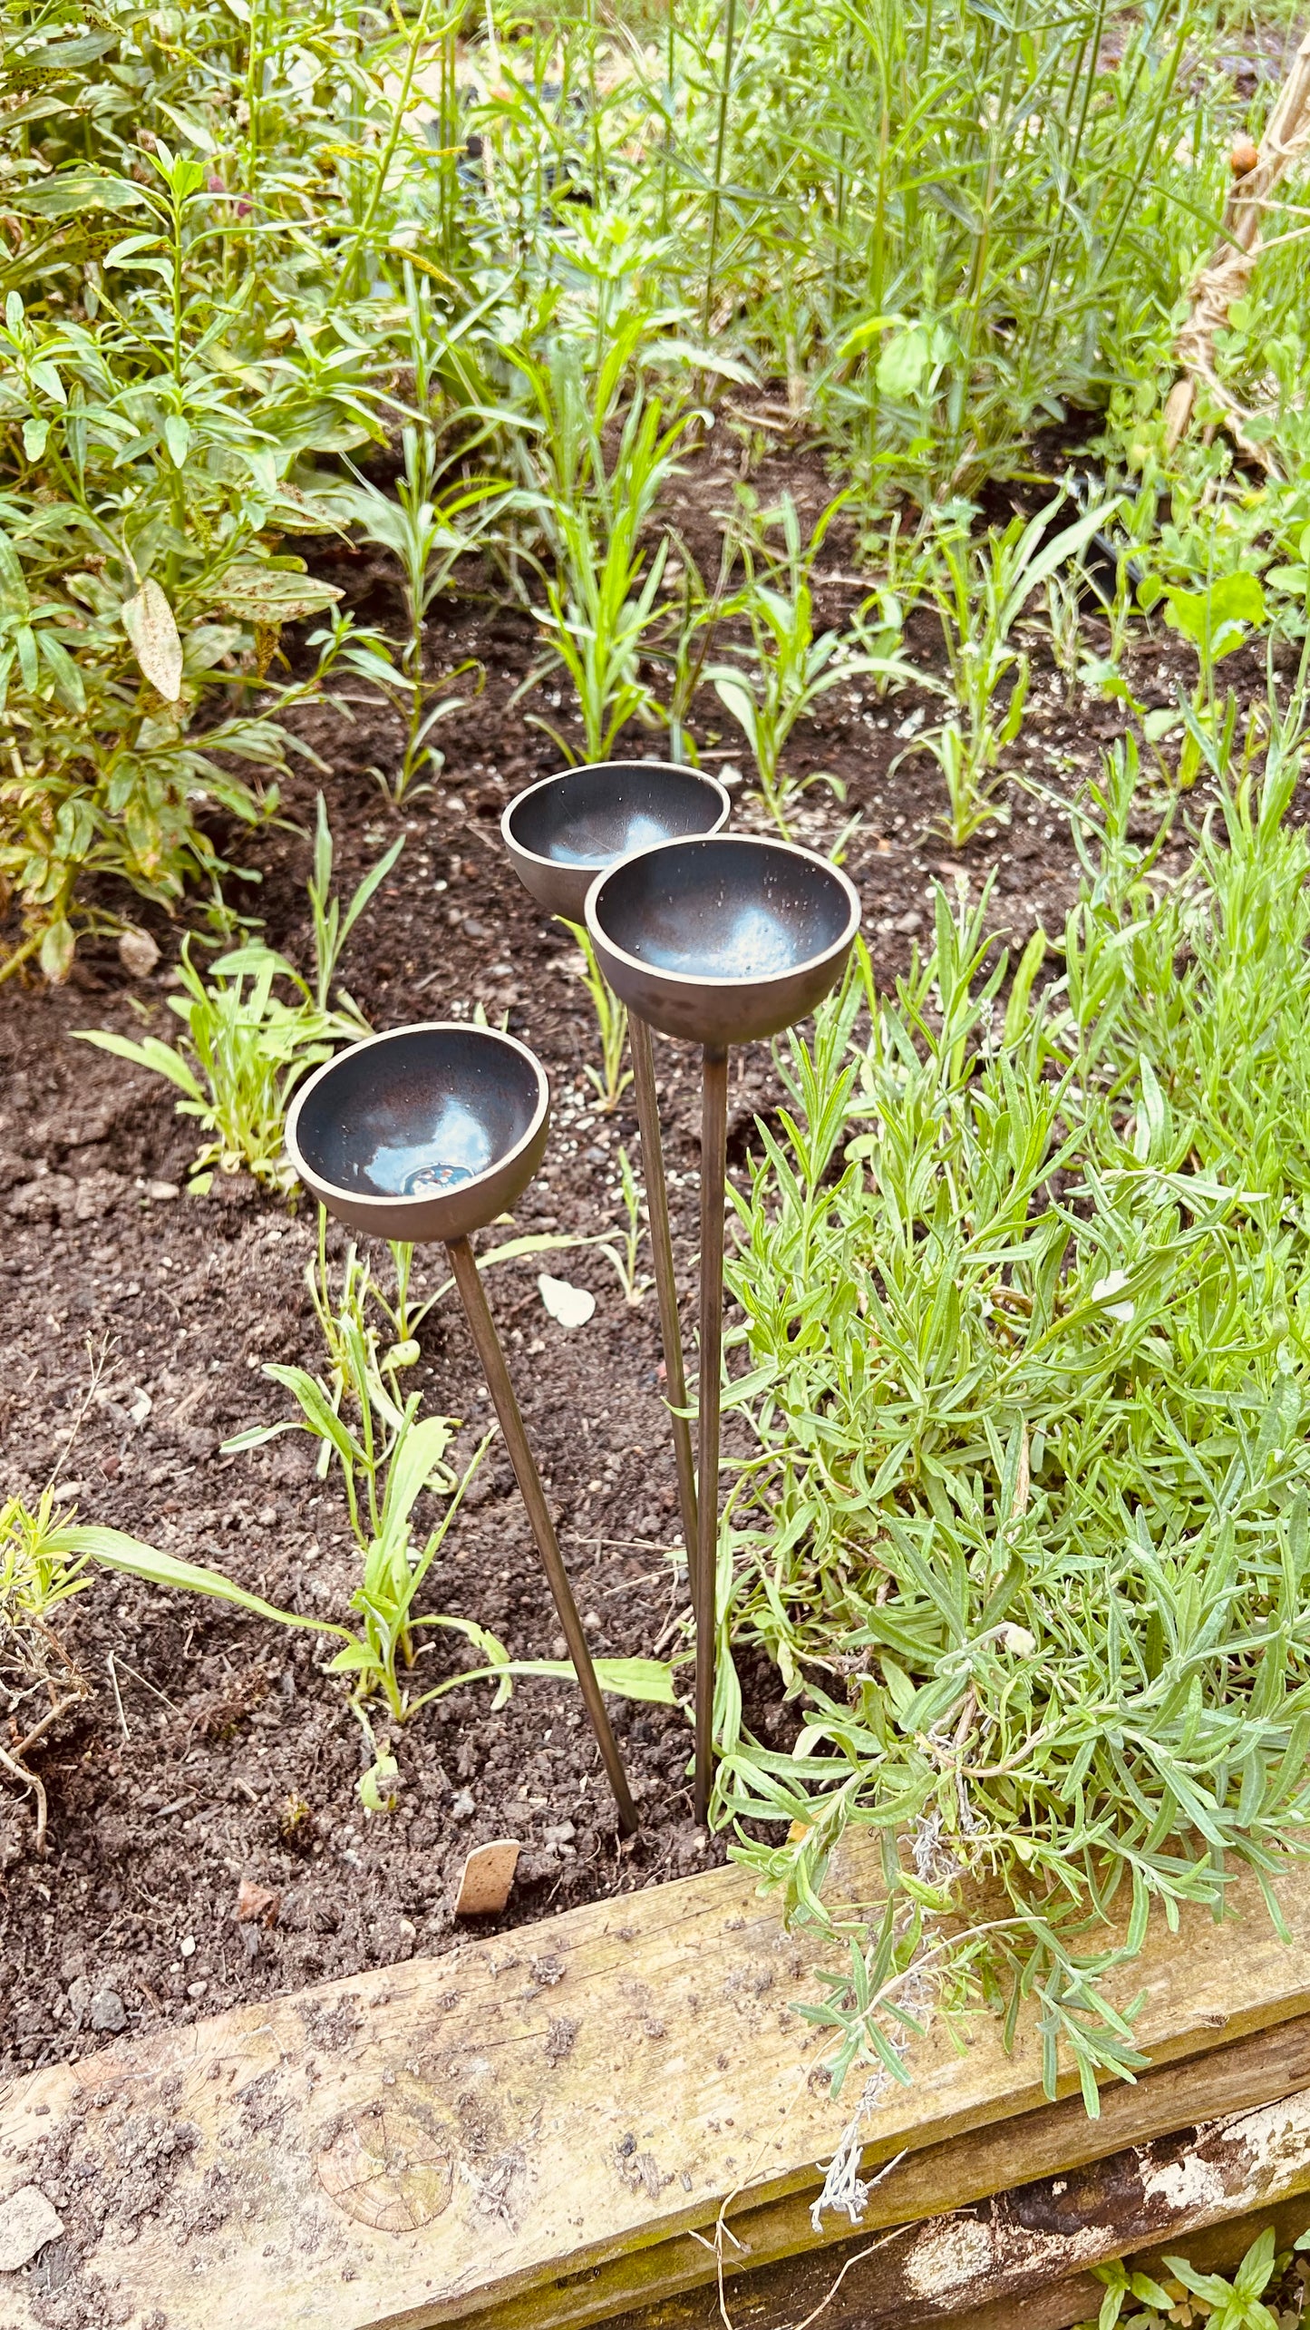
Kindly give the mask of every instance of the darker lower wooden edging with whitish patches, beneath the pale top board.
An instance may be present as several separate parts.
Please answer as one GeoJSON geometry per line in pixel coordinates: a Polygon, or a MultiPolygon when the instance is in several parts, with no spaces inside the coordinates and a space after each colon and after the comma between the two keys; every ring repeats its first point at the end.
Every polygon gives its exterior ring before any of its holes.
{"type": "MultiPolygon", "coordinates": [[[[991,2323],[995,2309],[1030,2307],[1054,2323],[1070,2279],[1068,2321],[1096,2314],[1100,2288],[1079,2267],[1149,2237],[1177,2248],[1198,2227],[1247,2220],[1256,2200],[1310,2188],[1308,2083],[1310,2018],[1301,2015],[1112,2090],[1100,2123],[1070,2099],[930,2146],[876,2188],[858,2234],[774,2262],[755,2239],[748,2258],[725,2244],[730,2321],[734,2330],[795,2330],[823,2314],[823,2330],[963,2330],[991,2323]],[[1117,2141],[1126,2123],[1138,2130],[1131,2146],[1117,2141]]],[[[1296,2232],[1305,2220],[1310,2202],[1301,2200],[1296,2232]]],[[[732,2230],[741,2234],[741,2220],[732,2230]]],[[[501,2321],[478,2316],[478,2330],[501,2330],[501,2321]]],[[[720,2325],[720,2290],[704,2272],[699,2286],[604,2314],[604,2330],[720,2325]]]]}

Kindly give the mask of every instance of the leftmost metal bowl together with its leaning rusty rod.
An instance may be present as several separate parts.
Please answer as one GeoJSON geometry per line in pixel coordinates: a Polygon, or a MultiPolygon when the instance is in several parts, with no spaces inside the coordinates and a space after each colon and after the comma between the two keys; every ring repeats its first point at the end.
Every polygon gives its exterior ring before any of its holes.
{"type": "Polygon", "coordinates": [[[541,1165],[548,1123],[550,1086],[527,1044],[494,1028],[431,1021],[366,1037],[319,1067],[287,1118],[287,1151],[305,1188],[352,1230],[445,1247],[615,1794],[618,1822],[625,1836],[634,1836],[632,1789],[469,1247],[473,1230],[522,1198],[541,1165]]]}

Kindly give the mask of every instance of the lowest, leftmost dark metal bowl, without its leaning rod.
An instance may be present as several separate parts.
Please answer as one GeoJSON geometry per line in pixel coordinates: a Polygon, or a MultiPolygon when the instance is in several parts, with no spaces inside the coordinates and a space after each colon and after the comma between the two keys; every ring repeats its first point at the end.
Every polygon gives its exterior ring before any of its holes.
{"type": "Polygon", "coordinates": [[[296,1093],[287,1153],[352,1230],[450,1242],[522,1195],[548,1123],[550,1086],[527,1044],[431,1021],[326,1060],[296,1093]]]}

